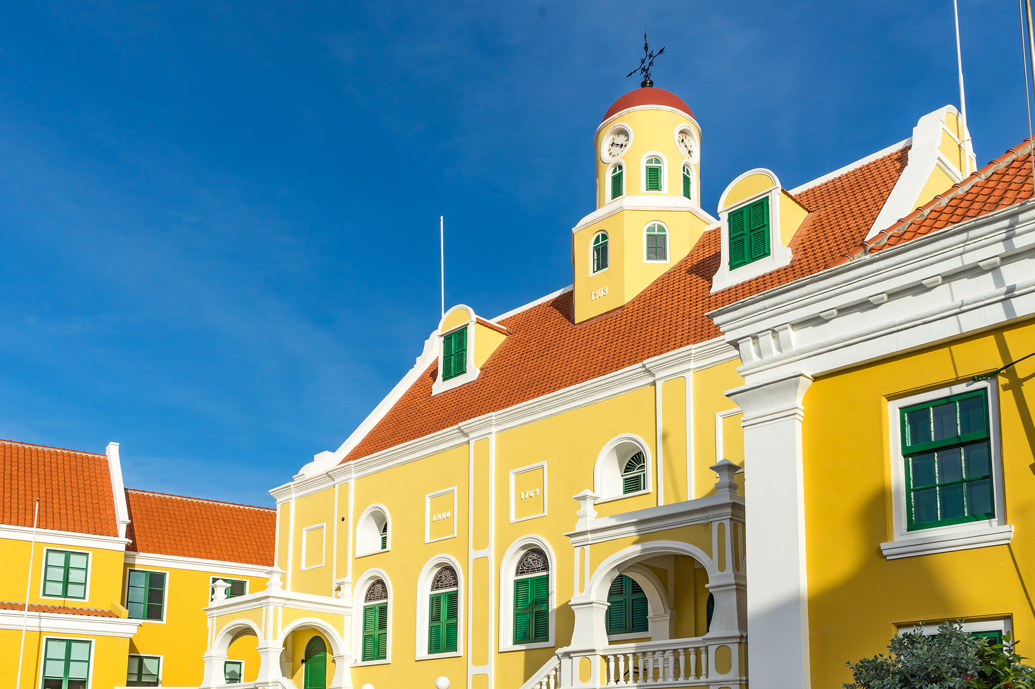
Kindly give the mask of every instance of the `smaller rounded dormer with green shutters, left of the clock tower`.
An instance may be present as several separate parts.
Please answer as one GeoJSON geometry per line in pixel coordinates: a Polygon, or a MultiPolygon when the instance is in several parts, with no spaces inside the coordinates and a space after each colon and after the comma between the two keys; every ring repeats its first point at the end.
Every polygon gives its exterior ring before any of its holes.
{"type": "Polygon", "coordinates": [[[469,306],[460,304],[447,311],[439,321],[439,367],[432,395],[476,379],[507,335],[507,328],[478,318],[469,306]]]}

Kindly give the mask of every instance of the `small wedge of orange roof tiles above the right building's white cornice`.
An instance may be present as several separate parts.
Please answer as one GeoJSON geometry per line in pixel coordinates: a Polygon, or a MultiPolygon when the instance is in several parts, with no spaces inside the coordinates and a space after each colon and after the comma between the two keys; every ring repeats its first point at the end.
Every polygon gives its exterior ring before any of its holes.
{"type": "Polygon", "coordinates": [[[891,227],[841,253],[831,265],[861,258],[1029,199],[1032,197],[1032,142],[1025,139],[891,227]]]}

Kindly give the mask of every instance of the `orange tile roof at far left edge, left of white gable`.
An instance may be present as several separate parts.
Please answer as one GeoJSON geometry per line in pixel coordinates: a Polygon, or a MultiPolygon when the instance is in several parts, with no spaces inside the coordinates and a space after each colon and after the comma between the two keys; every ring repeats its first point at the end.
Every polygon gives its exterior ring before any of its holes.
{"type": "Polygon", "coordinates": [[[108,458],[94,452],[0,440],[0,524],[117,536],[108,458]]]}

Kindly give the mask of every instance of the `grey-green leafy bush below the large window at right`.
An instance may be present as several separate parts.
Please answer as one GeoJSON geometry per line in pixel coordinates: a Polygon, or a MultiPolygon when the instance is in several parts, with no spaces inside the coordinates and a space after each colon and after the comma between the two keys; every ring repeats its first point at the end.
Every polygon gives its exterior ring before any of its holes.
{"type": "Polygon", "coordinates": [[[917,628],[894,636],[887,655],[848,663],[853,681],[845,689],[1035,689],[1035,668],[1022,664],[1014,645],[949,622],[937,634],[917,628]]]}

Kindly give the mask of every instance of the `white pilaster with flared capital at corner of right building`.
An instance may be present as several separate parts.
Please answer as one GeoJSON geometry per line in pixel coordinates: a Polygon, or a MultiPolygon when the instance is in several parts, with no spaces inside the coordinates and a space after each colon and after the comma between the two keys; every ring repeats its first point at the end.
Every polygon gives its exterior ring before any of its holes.
{"type": "Polygon", "coordinates": [[[802,400],[796,373],[727,393],[743,412],[751,689],[808,689],[802,400]]]}

